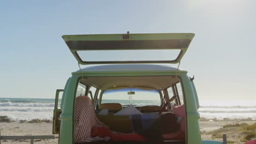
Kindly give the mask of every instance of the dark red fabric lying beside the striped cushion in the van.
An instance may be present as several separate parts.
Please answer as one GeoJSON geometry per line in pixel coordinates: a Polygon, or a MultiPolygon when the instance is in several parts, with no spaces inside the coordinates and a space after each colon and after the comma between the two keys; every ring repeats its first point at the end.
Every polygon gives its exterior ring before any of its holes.
{"type": "Polygon", "coordinates": [[[146,139],[138,134],[124,134],[124,133],[113,133],[105,127],[93,127],[91,129],[91,136],[96,137],[110,137],[113,141],[146,141],[146,139]]]}

